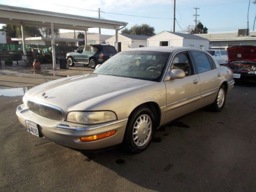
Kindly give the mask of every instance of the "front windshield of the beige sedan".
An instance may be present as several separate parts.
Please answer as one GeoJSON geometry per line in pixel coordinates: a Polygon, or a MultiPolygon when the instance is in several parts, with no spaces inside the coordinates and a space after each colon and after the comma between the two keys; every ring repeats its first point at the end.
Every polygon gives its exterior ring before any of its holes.
{"type": "Polygon", "coordinates": [[[125,51],[105,61],[95,74],[160,81],[170,53],[125,51]]]}

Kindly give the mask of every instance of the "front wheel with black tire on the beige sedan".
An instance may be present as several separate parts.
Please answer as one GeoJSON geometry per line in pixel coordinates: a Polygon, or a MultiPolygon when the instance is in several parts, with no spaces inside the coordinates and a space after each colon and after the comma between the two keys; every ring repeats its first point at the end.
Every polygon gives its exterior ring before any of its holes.
{"type": "Polygon", "coordinates": [[[140,153],[142,151],[144,151],[151,143],[152,137],[155,133],[155,116],[152,113],[152,111],[146,107],[140,107],[138,109],[136,109],[130,116],[127,125],[126,125],[126,130],[125,130],[125,135],[124,135],[124,139],[123,139],[123,144],[124,146],[127,148],[127,150],[129,150],[132,153],[140,153]],[[150,120],[148,120],[148,122],[151,122],[151,132],[150,132],[150,126],[147,122],[143,122],[142,123],[146,123],[144,125],[141,124],[140,126],[138,125],[138,119],[142,117],[141,120],[143,120],[143,116],[150,118],[150,120]],[[140,129],[138,129],[137,131],[137,138],[139,138],[139,135],[141,135],[142,137],[145,136],[145,140],[142,139],[141,141],[141,146],[139,146],[139,141],[140,139],[136,140],[136,129],[135,127],[138,126],[140,129]],[[148,134],[148,135],[147,135],[148,134]],[[136,144],[137,142],[137,144],[136,144]]]}

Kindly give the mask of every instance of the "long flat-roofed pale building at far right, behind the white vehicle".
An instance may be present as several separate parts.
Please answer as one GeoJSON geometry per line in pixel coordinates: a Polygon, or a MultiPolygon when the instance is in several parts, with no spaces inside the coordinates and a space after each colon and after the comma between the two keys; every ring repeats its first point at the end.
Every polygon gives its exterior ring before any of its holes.
{"type": "Polygon", "coordinates": [[[207,33],[197,34],[200,37],[207,38],[210,41],[211,49],[227,49],[232,46],[256,46],[256,32],[252,31],[248,36],[234,33],[207,33]]]}

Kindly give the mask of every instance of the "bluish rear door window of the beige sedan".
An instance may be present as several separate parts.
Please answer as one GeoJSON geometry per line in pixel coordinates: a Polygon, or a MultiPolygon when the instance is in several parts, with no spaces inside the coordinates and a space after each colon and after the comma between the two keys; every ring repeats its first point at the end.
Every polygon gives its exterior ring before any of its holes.
{"type": "Polygon", "coordinates": [[[193,56],[196,70],[198,73],[203,73],[205,71],[211,70],[210,62],[204,52],[201,51],[190,51],[193,56]]]}

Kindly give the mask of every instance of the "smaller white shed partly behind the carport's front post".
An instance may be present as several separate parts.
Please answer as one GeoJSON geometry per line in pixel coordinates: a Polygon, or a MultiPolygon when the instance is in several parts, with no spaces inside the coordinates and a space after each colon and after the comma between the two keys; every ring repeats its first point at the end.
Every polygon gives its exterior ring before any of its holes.
{"type": "MultiPolygon", "coordinates": [[[[118,34],[118,52],[138,47],[147,47],[146,35],[118,34]]],[[[106,39],[106,44],[115,46],[116,35],[106,39]]]]}

